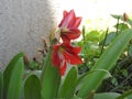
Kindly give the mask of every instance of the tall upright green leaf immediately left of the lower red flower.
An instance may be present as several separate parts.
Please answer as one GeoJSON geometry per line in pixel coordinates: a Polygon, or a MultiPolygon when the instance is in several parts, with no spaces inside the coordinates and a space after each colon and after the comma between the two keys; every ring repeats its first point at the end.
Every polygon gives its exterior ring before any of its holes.
{"type": "Polygon", "coordinates": [[[52,48],[50,50],[43,65],[41,82],[43,99],[54,99],[57,97],[61,75],[58,68],[52,65],[52,48]]]}

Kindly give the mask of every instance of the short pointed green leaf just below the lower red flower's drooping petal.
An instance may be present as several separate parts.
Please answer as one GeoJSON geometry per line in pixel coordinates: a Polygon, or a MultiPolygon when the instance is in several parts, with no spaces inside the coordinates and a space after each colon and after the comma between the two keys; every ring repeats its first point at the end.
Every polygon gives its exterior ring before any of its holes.
{"type": "Polygon", "coordinates": [[[74,96],[77,85],[77,70],[73,67],[67,74],[64,84],[61,88],[59,98],[70,99],[74,96]]]}

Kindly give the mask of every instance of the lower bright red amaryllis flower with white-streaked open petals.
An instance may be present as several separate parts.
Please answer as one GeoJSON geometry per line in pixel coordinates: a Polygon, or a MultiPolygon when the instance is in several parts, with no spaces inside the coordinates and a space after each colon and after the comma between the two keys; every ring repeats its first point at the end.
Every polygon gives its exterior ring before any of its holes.
{"type": "Polygon", "coordinates": [[[53,46],[53,65],[58,67],[62,76],[65,74],[68,64],[77,65],[82,63],[78,56],[80,51],[81,47],[73,47],[69,43],[53,46]]]}

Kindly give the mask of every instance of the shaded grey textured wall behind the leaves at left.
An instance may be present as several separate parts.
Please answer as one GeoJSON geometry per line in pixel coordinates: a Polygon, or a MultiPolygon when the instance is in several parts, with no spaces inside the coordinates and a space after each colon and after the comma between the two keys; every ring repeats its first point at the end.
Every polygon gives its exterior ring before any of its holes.
{"type": "Polygon", "coordinates": [[[0,0],[0,68],[13,55],[32,57],[55,25],[52,0],[0,0]]]}

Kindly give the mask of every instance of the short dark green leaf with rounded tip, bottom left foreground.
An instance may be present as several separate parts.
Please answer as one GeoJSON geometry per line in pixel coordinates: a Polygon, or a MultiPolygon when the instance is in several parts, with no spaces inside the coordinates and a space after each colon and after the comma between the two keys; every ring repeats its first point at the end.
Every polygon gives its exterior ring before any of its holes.
{"type": "Polygon", "coordinates": [[[30,75],[24,84],[24,99],[41,99],[41,81],[35,75],[30,75]]]}

